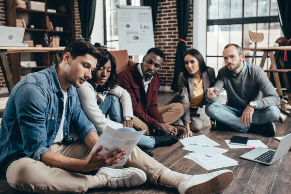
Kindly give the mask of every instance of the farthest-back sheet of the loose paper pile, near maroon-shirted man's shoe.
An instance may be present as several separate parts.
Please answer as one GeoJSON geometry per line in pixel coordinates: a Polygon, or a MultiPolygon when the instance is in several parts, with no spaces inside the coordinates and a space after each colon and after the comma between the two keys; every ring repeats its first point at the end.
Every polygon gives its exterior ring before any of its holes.
{"type": "Polygon", "coordinates": [[[185,147],[195,147],[195,146],[220,146],[220,144],[211,140],[205,135],[197,135],[179,140],[181,144],[185,147]]]}

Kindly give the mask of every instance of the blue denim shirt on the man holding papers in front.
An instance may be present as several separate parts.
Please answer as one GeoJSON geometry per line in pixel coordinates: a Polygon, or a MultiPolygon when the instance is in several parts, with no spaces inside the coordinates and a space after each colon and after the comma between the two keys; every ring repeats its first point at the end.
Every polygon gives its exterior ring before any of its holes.
{"type": "MultiPolygon", "coordinates": [[[[54,142],[64,110],[56,67],[28,74],[11,91],[0,129],[1,179],[6,180],[6,170],[11,162],[23,157],[40,161],[54,142]]],[[[66,91],[63,142],[74,142],[69,133],[70,122],[83,141],[96,129],[81,109],[76,88],[70,86],[66,91]]]]}

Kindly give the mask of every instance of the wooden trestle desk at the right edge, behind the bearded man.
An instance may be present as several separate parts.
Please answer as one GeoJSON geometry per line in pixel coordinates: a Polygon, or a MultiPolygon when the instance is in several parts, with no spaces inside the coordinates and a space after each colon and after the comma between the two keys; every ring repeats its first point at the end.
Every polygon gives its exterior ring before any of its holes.
{"type": "MultiPolygon", "coordinates": [[[[254,48],[242,48],[243,50],[254,50],[254,48]]],[[[291,50],[291,46],[284,46],[284,47],[265,47],[265,48],[257,48],[257,51],[262,51],[263,56],[262,56],[262,60],[260,62],[260,67],[263,68],[266,58],[269,55],[270,59],[271,59],[271,66],[270,69],[265,70],[268,75],[268,77],[270,78],[270,73],[272,72],[274,75],[274,80],[275,80],[275,86],[277,88],[277,92],[278,95],[283,99],[283,92],[282,92],[282,87],[281,87],[281,83],[280,83],[280,79],[279,79],[279,74],[278,72],[282,72],[283,74],[283,79],[284,79],[284,84],[285,87],[287,89],[287,96],[288,96],[288,101],[289,104],[291,104],[291,90],[290,90],[290,83],[288,80],[288,76],[287,76],[287,72],[291,72],[291,69],[286,69],[285,68],[285,63],[283,60],[283,55],[280,54],[280,52],[283,52],[284,50],[291,50]],[[280,61],[280,65],[282,69],[277,69],[277,65],[276,65],[276,59],[279,56],[279,61],[280,61]]]]}

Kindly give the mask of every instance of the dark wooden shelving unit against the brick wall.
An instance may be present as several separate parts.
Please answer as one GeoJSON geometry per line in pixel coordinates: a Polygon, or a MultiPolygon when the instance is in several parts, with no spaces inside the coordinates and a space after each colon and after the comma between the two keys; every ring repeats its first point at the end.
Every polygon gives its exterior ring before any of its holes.
{"type": "MultiPolygon", "coordinates": [[[[23,19],[26,22],[24,40],[33,40],[34,45],[47,47],[44,40],[45,33],[50,36],[60,37],[60,47],[65,47],[74,38],[74,0],[36,0],[45,3],[46,11],[37,11],[15,7],[15,0],[6,0],[7,26],[16,27],[16,19],[23,19]],[[65,8],[65,13],[59,13],[59,7],[65,8]],[[47,12],[48,9],[55,9],[57,13],[47,12]],[[47,16],[56,26],[63,27],[63,32],[51,31],[48,29],[47,16]],[[33,24],[34,28],[29,28],[28,24],[33,24]]],[[[9,54],[10,69],[15,84],[20,81],[20,76],[31,72],[36,72],[56,63],[54,53],[34,52],[34,53],[11,53],[9,54]],[[20,61],[36,61],[36,67],[21,67],[20,61]]]]}

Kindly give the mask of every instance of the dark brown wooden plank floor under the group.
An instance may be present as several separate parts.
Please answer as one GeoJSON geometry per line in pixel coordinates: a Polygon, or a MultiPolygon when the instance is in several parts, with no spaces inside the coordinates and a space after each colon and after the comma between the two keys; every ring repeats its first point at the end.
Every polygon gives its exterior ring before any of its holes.
{"type": "MultiPolygon", "coordinates": [[[[160,94],[159,101],[165,102],[172,94],[160,94]]],[[[289,106],[290,111],[290,106],[289,106]]],[[[291,132],[291,117],[287,117],[285,123],[275,122],[276,136],[284,136],[291,132]]],[[[234,131],[216,131],[210,127],[203,129],[194,135],[205,134],[212,140],[218,142],[221,148],[229,149],[225,139],[230,139],[233,135],[242,135],[234,131]]],[[[263,137],[259,134],[246,133],[244,136],[249,139],[259,139],[271,149],[276,149],[279,142],[273,137],[263,137]]],[[[182,149],[182,145],[177,144],[169,147],[159,147],[148,149],[154,153],[154,159],[162,162],[166,167],[177,172],[190,175],[209,173],[216,170],[205,170],[195,162],[182,158],[188,151],[182,149]]],[[[229,149],[224,155],[239,161],[239,165],[221,169],[230,169],[234,173],[232,183],[222,194],[291,194],[291,151],[282,159],[271,166],[250,162],[239,157],[250,149],[229,149]]],[[[155,186],[146,182],[143,185],[130,189],[111,190],[108,188],[90,189],[87,194],[178,194],[178,190],[167,186],[155,186]]],[[[7,183],[0,182],[0,194],[24,194],[11,188],[7,183]]]]}

